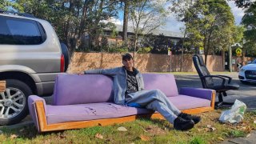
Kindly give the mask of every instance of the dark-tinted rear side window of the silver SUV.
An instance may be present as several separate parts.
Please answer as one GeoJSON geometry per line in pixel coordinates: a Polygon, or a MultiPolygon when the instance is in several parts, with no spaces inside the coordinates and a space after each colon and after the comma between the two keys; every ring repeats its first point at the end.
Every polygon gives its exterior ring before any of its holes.
{"type": "Polygon", "coordinates": [[[0,16],[0,44],[38,45],[46,39],[42,26],[33,20],[0,16]],[[43,36],[42,36],[43,35],[43,36]]]}

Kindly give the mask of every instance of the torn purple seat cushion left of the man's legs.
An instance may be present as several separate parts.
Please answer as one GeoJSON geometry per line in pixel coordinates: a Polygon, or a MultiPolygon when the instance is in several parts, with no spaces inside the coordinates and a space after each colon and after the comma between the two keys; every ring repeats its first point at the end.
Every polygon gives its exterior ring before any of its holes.
{"type": "Polygon", "coordinates": [[[47,123],[75,122],[93,119],[119,118],[134,114],[149,114],[152,110],[120,106],[111,102],[66,106],[46,106],[47,123]]]}

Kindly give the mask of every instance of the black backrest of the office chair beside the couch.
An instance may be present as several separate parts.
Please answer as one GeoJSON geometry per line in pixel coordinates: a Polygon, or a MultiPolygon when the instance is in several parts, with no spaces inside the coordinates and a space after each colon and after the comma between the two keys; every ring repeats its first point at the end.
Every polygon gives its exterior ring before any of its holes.
{"type": "Polygon", "coordinates": [[[201,79],[202,87],[207,88],[208,86],[214,86],[213,78],[205,78],[205,81],[204,81],[204,78],[202,78],[203,76],[210,75],[205,63],[203,62],[202,55],[194,55],[193,62],[194,62],[194,67],[197,70],[198,75],[201,79]]]}

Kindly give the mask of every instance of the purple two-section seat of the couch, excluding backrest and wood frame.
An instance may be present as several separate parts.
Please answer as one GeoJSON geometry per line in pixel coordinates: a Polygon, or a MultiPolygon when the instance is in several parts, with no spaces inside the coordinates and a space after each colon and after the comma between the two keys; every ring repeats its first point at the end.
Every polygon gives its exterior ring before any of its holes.
{"type": "MultiPolygon", "coordinates": [[[[179,95],[169,98],[179,110],[210,106],[210,101],[202,98],[194,98],[179,95]]],[[[111,102],[88,103],[66,106],[46,106],[48,124],[59,122],[75,122],[105,118],[120,118],[134,114],[150,114],[152,110],[120,106],[111,102]]]]}

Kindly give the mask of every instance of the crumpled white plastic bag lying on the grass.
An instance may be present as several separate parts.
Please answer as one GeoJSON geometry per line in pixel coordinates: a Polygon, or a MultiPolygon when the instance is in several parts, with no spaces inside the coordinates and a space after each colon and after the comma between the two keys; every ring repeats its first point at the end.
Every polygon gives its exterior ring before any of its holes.
{"type": "Polygon", "coordinates": [[[230,110],[225,110],[222,112],[219,120],[221,122],[230,123],[241,122],[243,119],[243,114],[245,114],[246,107],[247,106],[244,102],[236,99],[230,110]]]}

